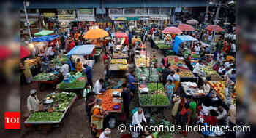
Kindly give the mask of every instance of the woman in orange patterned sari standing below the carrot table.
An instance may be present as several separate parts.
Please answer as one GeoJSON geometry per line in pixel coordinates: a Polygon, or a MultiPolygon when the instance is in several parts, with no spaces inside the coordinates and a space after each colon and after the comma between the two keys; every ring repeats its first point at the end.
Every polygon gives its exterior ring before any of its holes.
{"type": "Polygon", "coordinates": [[[91,110],[91,134],[93,134],[94,137],[99,137],[103,129],[105,111],[102,109],[101,105],[102,100],[97,99],[96,105],[94,105],[94,107],[91,110]]]}

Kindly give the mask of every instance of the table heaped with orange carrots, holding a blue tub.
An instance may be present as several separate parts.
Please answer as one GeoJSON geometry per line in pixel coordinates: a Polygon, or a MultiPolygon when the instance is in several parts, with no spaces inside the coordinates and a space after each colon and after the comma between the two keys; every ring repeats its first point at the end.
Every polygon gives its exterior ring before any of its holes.
{"type": "Polygon", "coordinates": [[[122,98],[113,97],[113,92],[119,92],[121,94],[122,89],[108,89],[106,92],[97,95],[97,99],[102,100],[102,108],[107,113],[122,113],[122,98]],[[113,109],[114,105],[119,105],[117,110],[113,109]]]}

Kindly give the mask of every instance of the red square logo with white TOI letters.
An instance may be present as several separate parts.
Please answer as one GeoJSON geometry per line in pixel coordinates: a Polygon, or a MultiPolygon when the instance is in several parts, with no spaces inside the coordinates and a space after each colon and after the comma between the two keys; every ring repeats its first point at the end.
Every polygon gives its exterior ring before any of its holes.
{"type": "Polygon", "coordinates": [[[4,129],[20,129],[20,112],[4,113],[4,129]]]}

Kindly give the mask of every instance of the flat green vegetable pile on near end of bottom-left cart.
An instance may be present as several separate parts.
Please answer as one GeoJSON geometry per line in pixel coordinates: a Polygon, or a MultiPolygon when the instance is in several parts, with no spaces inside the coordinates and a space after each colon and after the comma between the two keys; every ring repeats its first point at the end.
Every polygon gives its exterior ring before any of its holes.
{"type": "Polygon", "coordinates": [[[33,113],[29,119],[28,122],[50,122],[50,121],[60,121],[61,116],[63,113],[59,112],[36,112],[33,113]]]}

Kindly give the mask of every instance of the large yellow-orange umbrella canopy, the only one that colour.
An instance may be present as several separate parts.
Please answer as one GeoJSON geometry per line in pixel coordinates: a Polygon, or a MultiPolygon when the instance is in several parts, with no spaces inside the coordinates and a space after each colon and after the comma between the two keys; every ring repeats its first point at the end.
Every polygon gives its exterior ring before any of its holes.
{"type": "Polygon", "coordinates": [[[108,36],[108,32],[103,29],[91,29],[83,36],[83,38],[87,39],[97,39],[104,38],[108,36]]]}

